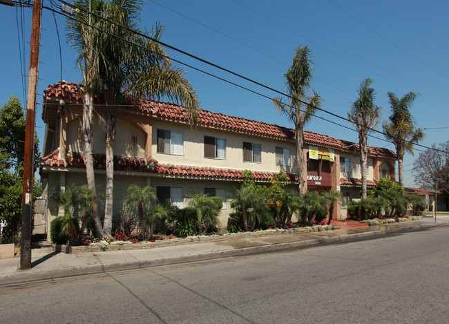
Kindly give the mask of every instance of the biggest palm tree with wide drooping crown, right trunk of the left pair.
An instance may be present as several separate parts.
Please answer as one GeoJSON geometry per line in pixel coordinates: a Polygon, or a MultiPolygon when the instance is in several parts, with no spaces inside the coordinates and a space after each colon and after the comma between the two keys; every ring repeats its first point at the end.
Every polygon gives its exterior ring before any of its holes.
{"type": "MultiPolygon", "coordinates": [[[[86,7],[86,0],[76,5],[86,7]]],[[[95,84],[96,90],[104,97],[106,104],[106,202],[103,231],[111,235],[113,218],[113,143],[115,140],[115,122],[117,110],[124,102],[135,102],[140,98],[169,98],[180,102],[189,113],[194,125],[198,114],[198,97],[180,68],[173,68],[162,47],[154,41],[137,35],[142,1],[139,0],[98,0],[92,11],[96,27],[106,32],[95,31],[91,46],[94,48],[93,67],[96,73],[92,80],[85,83],[95,84]],[[112,22],[111,22],[112,21],[112,22]],[[124,26],[125,28],[123,28],[124,26]],[[133,31],[131,31],[133,30],[133,31]]],[[[93,23],[90,20],[90,23],[93,23]]],[[[80,23],[73,23],[73,38],[84,39],[90,32],[88,28],[79,28],[80,23]],[[78,32],[78,33],[77,33],[78,32]]],[[[82,25],[82,24],[81,24],[82,25]]],[[[156,26],[151,32],[153,39],[158,39],[163,28],[156,26]]],[[[79,55],[86,57],[88,46],[81,42],[79,55]]],[[[92,169],[93,170],[93,169],[92,169]]],[[[87,172],[87,159],[86,159],[87,172]]],[[[93,175],[93,171],[92,171],[93,175]]],[[[90,186],[89,186],[90,187],[90,186]]]]}

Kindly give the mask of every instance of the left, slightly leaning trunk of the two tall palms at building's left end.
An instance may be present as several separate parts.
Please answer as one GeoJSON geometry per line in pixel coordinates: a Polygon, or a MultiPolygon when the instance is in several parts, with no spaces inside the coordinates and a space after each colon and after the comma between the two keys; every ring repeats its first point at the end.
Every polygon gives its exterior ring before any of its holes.
{"type": "MultiPolygon", "coordinates": [[[[90,85],[86,83],[84,89],[83,105],[83,137],[84,137],[84,156],[86,158],[86,179],[87,186],[95,193],[95,173],[93,169],[93,93],[90,85]]],[[[102,222],[99,219],[98,209],[92,209],[93,220],[95,222],[95,236],[103,237],[102,222]]]]}

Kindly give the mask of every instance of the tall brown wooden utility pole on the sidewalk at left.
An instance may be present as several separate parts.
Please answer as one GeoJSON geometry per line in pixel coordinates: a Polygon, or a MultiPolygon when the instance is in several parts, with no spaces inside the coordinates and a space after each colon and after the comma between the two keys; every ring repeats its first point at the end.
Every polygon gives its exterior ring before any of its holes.
{"type": "Polygon", "coordinates": [[[37,77],[39,74],[39,46],[41,41],[42,0],[35,0],[32,8],[30,73],[26,99],[25,156],[23,160],[22,230],[20,240],[20,269],[31,267],[31,215],[33,157],[35,148],[35,120],[37,77]]]}

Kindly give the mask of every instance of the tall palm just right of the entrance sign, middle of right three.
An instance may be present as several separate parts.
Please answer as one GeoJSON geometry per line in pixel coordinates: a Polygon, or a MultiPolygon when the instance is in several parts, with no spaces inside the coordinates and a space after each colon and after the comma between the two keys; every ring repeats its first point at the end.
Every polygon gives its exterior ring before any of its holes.
{"type": "Polygon", "coordinates": [[[351,111],[347,113],[350,122],[354,124],[359,133],[360,166],[362,173],[362,199],[366,199],[366,162],[368,155],[367,137],[376,127],[381,115],[381,108],[374,104],[374,88],[370,88],[372,79],[365,79],[357,91],[359,97],[352,104],[351,111]]]}

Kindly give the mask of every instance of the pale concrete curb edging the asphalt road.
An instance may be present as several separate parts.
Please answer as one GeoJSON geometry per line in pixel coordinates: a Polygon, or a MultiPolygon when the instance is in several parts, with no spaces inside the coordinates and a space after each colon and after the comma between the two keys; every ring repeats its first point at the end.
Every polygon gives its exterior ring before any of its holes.
{"type": "Polygon", "coordinates": [[[122,263],[105,263],[103,265],[84,265],[79,267],[68,267],[64,269],[47,270],[17,270],[14,274],[0,276],[0,287],[17,285],[23,283],[33,283],[45,280],[54,280],[57,278],[70,278],[73,276],[86,276],[90,274],[102,274],[113,271],[123,271],[131,269],[142,269],[146,267],[157,267],[160,265],[174,265],[178,263],[189,263],[195,261],[213,260],[216,258],[227,258],[231,256],[245,256],[267,251],[278,251],[282,249],[294,249],[298,247],[308,247],[312,245],[344,242],[349,240],[372,238],[374,236],[383,236],[386,234],[404,233],[409,231],[418,231],[437,226],[449,226],[449,223],[423,224],[397,229],[384,229],[380,231],[370,231],[358,234],[348,234],[345,236],[334,236],[332,238],[317,238],[312,240],[303,240],[298,242],[275,243],[271,245],[261,245],[258,247],[243,247],[239,249],[229,249],[225,251],[211,251],[187,256],[173,256],[169,258],[156,258],[152,260],[135,260],[122,263]]]}

